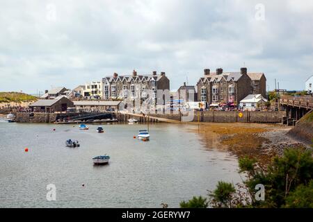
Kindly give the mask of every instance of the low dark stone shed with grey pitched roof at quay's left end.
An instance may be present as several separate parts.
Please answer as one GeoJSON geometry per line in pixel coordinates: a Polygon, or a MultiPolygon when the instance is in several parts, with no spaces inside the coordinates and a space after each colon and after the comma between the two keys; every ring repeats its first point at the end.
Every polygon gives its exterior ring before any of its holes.
{"type": "Polygon", "coordinates": [[[29,105],[33,112],[65,112],[67,108],[73,108],[74,103],[66,96],[59,96],[56,99],[40,99],[29,105]]]}

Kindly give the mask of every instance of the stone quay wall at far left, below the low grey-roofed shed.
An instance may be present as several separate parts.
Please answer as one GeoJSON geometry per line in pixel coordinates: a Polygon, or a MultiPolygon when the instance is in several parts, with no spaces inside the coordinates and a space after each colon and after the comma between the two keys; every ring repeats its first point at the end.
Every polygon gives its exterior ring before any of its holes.
{"type": "Polygon", "coordinates": [[[16,121],[18,123],[53,123],[56,121],[55,113],[33,113],[17,112],[16,121]]]}

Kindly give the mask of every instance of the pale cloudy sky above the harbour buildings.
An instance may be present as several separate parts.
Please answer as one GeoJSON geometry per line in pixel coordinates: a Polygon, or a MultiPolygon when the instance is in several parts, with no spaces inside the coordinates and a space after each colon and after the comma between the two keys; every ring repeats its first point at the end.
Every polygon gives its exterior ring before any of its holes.
{"type": "Polygon", "coordinates": [[[0,91],[70,89],[117,72],[264,72],[269,89],[313,74],[313,1],[0,1],[0,91]],[[261,3],[261,4],[260,4],[261,3]],[[264,12],[264,13],[263,13],[264,12]]]}

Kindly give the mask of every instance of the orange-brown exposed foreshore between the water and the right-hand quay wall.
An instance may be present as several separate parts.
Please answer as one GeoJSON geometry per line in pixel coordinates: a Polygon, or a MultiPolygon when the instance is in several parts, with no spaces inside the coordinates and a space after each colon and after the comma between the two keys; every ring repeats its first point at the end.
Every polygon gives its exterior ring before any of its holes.
{"type": "Polygon", "coordinates": [[[230,151],[238,157],[255,157],[260,164],[282,155],[285,148],[308,147],[287,135],[290,126],[259,123],[201,123],[198,132],[207,148],[230,151]]]}

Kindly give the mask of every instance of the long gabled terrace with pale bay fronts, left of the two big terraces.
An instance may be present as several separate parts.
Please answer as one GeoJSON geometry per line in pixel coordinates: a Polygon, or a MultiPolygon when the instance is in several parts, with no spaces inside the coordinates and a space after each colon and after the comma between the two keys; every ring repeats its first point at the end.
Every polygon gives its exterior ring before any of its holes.
{"type": "Polygon", "coordinates": [[[113,74],[102,78],[102,97],[103,99],[138,99],[142,101],[151,98],[154,103],[157,102],[158,89],[170,89],[170,80],[165,72],[157,75],[153,71],[151,75],[138,75],[133,71],[132,75],[113,74]]]}

